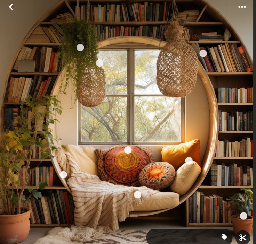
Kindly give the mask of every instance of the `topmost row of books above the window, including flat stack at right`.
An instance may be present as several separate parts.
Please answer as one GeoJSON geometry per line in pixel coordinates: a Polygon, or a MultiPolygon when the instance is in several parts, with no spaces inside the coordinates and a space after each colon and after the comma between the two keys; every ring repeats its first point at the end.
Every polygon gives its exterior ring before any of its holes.
{"type": "MultiPolygon", "coordinates": [[[[87,20],[87,5],[75,8],[75,14],[79,19],[87,20]]],[[[171,3],[130,3],[90,5],[91,22],[129,22],[129,21],[168,21],[171,18],[171,3]]],[[[199,15],[198,10],[189,10],[178,13],[179,19],[195,21],[199,15]]]]}

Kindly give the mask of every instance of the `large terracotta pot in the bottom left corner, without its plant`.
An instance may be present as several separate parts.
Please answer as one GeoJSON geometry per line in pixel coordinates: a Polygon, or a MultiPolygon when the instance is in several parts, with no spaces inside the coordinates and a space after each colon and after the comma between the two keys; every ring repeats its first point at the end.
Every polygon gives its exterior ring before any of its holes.
{"type": "Polygon", "coordinates": [[[0,215],[0,243],[14,244],[27,238],[30,230],[29,208],[22,208],[26,212],[15,215],[0,215]]]}

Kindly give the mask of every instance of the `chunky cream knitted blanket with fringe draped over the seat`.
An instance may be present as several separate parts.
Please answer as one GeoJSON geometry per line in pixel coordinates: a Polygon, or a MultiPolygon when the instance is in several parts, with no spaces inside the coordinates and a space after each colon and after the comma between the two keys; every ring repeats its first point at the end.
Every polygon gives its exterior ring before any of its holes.
{"type": "Polygon", "coordinates": [[[109,226],[116,230],[118,221],[124,221],[135,206],[155,193],[145,186],[114,185],[101,181],[96,175],[81,172],[72,156],[63,149],[56,150],[55,156],[62,170],[67,173],[67,184],[74,200],[76,226],[109,226]],[[141,198],[134,197],[135,191],[141,192],[141,198]]]}

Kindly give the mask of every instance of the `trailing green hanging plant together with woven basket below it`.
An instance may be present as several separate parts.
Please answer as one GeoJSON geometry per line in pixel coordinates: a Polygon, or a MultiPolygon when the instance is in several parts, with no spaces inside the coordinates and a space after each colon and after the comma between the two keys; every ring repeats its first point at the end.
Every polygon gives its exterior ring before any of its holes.
{"type": "Polygon", "coordinates": [[[97,106],[105,98],[104,70],[96,65],[98,44],[95,25],[85,20],[69,20],[62,24],[61,56],[66,79],[60,90],[65,94],[71,81],[78,101],[88,107],[97,106]]]}

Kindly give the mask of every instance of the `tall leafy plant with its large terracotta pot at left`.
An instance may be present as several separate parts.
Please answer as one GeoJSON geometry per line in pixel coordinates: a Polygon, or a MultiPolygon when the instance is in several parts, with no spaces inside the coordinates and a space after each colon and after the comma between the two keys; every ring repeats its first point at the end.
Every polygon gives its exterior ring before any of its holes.
{"type": "MultiPolygon", "coordinates": [[[[11,127],[0,137],[0,243],[18,243],[26,239],[30,230],[30,197],[38,199],[47,183],[27,186],[35,168],[30,168],[35,147],[42,159],[54,157],[55,149],[51,124],[53,115],[62,112],[55,96],[43,96],[40,101],[29,96],[19,109],[11,127]],[[39,151],[38,150],[38,151],[39,151]],[[22,178],[22,182],[19,182],[22,178]],[[26,189],[26,190],[25,190],[26,189]],[[27,194],[24,194],[24,191],[27,194]]],[[[41,163],[41,162],[40,162],[41,163]]],[[[40,164],[39,163],[39,164],[40,164]]],[[[38,166],[38,165],[34,165],[38,166]]]]}

